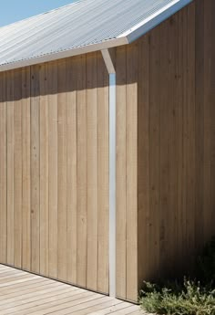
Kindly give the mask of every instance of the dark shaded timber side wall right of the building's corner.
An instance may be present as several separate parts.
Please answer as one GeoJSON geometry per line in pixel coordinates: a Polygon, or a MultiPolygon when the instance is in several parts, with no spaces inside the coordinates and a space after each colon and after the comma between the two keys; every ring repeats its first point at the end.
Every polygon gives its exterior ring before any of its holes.
{"type": "Polygon", "coordinates": [[[196,0],[138,40],[139,286],[186,273],[215,234],[213,7],[196,0]]]}

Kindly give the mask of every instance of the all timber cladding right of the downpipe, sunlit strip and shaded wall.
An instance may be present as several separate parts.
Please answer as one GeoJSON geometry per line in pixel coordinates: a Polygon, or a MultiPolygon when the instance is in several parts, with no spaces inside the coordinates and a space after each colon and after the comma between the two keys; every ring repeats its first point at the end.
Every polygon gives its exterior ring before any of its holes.
{"type": "Polygon", "coordinates": [[[122,299],[136,300],[143,280],[184,274],[215,234],[213,9],[214,1],[196,0],[136,43],[116,49],[122,299]]]}

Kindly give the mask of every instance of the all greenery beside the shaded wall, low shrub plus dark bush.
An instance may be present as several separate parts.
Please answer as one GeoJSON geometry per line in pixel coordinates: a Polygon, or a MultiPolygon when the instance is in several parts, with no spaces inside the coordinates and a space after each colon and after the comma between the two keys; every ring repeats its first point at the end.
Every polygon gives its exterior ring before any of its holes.
{"type": "Polygon", "coordinates": [[[195,272],[200,281],[144,282],[141,307],[157,314],[215,315],[215,237],[197,258],[195,272]]]}

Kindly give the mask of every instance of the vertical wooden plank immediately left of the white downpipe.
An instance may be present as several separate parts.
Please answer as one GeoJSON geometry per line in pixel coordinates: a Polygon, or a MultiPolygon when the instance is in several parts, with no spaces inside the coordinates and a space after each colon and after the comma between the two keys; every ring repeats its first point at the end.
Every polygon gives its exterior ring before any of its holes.
{"type": "Polygon", "coordinates": [[[97,291],[108,293],[108,74],[100,52],[97,53],[97,291]]]}

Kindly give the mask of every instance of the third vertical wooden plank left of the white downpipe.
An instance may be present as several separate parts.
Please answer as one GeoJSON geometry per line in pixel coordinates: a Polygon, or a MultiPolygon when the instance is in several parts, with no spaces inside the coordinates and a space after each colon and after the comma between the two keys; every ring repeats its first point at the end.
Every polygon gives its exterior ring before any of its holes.
{"type": "Polygon", "coordinates": [[[86,56],[77,64],[77,283],[87,286],[86,56]]]}

